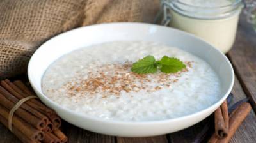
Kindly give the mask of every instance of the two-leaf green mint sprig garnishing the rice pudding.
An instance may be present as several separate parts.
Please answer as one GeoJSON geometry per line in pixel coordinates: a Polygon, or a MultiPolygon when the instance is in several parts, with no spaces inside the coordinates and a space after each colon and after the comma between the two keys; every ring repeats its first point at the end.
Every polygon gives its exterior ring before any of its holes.
{"type": "Polygon", "coordinates": [[[132,72],[139,74],[156,73],[157,69],[164,73],[176,73],[186,68],[186,65],[175,57],[163,56],[161,60],[156,61],[154,56],[146,56],[136,63],[132,64],[132,72]]]}

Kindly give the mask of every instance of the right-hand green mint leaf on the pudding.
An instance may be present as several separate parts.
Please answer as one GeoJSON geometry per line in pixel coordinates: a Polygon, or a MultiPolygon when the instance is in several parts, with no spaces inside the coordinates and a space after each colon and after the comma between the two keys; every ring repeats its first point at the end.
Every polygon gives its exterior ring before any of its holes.
{"type": "Polygon", "coordinates": [[[160,70],[164,73],[176,73],[186,68],[186,65],[175,57],[163,56],[159,63],[161,63],[160,70]]]}

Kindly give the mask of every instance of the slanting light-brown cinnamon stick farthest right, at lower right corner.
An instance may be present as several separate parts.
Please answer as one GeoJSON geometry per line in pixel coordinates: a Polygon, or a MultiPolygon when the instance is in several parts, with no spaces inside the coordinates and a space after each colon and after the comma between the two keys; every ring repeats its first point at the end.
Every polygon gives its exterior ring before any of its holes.
{"type": "Polygon", "coordinates": [[[228,143],[236,132],[237,128],[240,126],[241,123],[243,123],[244,119],[246,118],[246,116],[248,116],[251,110],[252,106],[250,105],[250,103],[241,103],[241,105],[237,107],[237,109],[234,110],[234,112],[232,112],[232,114],[230,115],[230,123],[227,137],[220,139],[218,143],[228,143]]]}

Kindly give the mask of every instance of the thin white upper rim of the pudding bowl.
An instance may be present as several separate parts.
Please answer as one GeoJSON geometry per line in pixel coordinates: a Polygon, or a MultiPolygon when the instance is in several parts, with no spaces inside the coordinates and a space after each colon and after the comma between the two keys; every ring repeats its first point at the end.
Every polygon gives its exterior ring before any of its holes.
{"type": "MultiPolygon", "coordinates": [[[[179,48],[179,47],[178,47],[179,48]]],[[[46,69],[45,69],[46,70],[46,69]]],[[[57,34],[56,36],[53,36],[52,38],[50,38],[49,40],[45,41],[42,45],[40,45],[38,47],[38,49],[36,49],[36,51],[33,53],[33,55],[31,56],[31,58],[29,59],[29,63],[28,63],[28,79],[29,79],[29,83],[31,84],[31,87],[33,87],[33,89],[35,90],[35,93],[37,94],[37,96],[40,98],[40,100],[42,101],[42,98],[47,101],[49,104],[51,104],[52,106],[54,106],[55,108],[58,108],[58,110],[62,110],[68,114],[74,115],[76,117],[81,117],[83,119],[90,119],[93,121],[98,121],[101,123],[113,123],[113,124],[132,124],[132,125],[138,125],[138,124],[162,124],[162,123],[170,123],[170,122],[176,122],[176,121],[181,121],[181,120],[186,120],[189,118],[193,118],[196,116],[199,116],[200,114],[204,114],[204,112],[206,113],[207,110],[210,110],[214,107],[216,107],[217,105],[221,105],[221,103],[224,102],[224,100],[227,98],[228,94],[231,93],[232,88],[234,86],[234,70],[232,68],[232,64],[230,63],[230,61],[228,60],[227,56],[225,56],[219,49],[216,49],[214,46],[212,46],[211,44],[209,44],[207,41],[203,40],[202,38],[195,36],[191,33],[187,33],[185,31],[181,31],[179,29],[174,29],[172,27],[166,27],[166,26],[161,26],[161,25],[157,25],[157,24],[147,24],[147,23],[142,23],[142,22],[111,22],[111,23],[104,23],[104,24],[93,24],[90,26],[84,26],[84,27],[78,27],[76,29],[71,29],[69,31],[65,31],[64,33],[60,33],[57,34]],[[31,77],[31,71],[33,69],[33,67],[31,67],[31,63],[33,62],[36,54],[38,54],[40,52],[40,50],[42,50],[42,48],[44,48],[45,43],[49,43],[53,40],[55,40],[56,38],[59,38],[65,34],[69,34],[69,33],[74,33],[75,31],[79,31],[81,29],[86,29],[86,28],[90,28],[90,27],[97,27],[97,26],[106,26],[106,25],[127,25],[127,24],[131,24],[133,26],[137,26],[137,25],[143,25],[143,26],[156,26],[156,27],[160,27],[160,28],[167,28],[167,29],[172,29],[173,31],[178,31],[179,33],[182,34],[187,34],[189,36],[192,36],[193,38],[196,38],[204,43],[206,43],[207,45],[209,45],[209,48],[217,50],[218,54],[221,54],[221,56],[224,57],[225,62],[228,63],[228,69],[230,70],[230,76],[231,76],[231,83],[228,87],[228,90],[226,91],[226,93],[220,98],[220,100],[218,100],[217,102],[213,103],[212,105],[210,105],[209,107],[203,109],[203,110],[199,110],[198,112],[192,113],[192,114],[188,114],[186,116],[181,116],[181,117],[175,117],[172,119],[161,119],[161,120],[154,120],[154,121],[119,121],[119,120],[107,120],[107,119],[101,119],[99,117],[92,117],[92,116],[88,116],[86,114],[83,113],[79,113],[76,111],[73,111],[71,109],[68,109],[66,107],[63,107],[61,105],[59,105],[58,103],[52,101],[50,98],[48,98],[40,89],[37,89],[34,86],[34,82],[32,80],[33,77],[31,77]]],[[[42,77],[41,80],[42,81],[42,77]]],[[[41,83],[42,84],[42,83],[41,83]]],[[[40,85],[41,85],[40,84],[40,85]]],[[[57,112],[57,111],[56,111],[57,112]]],[[[58,112],[57,112],[58,113],[58,112]]]]}

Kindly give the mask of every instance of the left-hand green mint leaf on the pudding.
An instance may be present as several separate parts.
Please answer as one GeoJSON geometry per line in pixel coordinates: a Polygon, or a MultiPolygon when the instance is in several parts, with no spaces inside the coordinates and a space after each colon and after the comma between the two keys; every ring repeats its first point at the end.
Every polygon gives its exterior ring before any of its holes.
{"type": "Polygon", "coordinates": [[[154,56],[146,56],[132,64],[131,70],[139,74],[156,73],[157,65],[155,63],[156,59],[154,56]]]}

